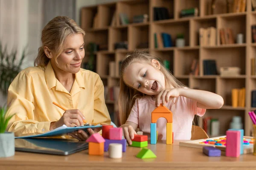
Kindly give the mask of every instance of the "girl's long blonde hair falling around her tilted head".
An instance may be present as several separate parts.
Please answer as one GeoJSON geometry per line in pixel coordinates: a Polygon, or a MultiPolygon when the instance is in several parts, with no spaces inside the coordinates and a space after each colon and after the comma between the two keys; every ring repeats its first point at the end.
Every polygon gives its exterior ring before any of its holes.
{"type": "Polygon", "coordinates": [[[160,59],[155,57],[154,55],[149,54],[147,51],[134,51],[133,53],[128,54],[127,57],[122,61],[120,67],[120,93],[118,105],[121,125],[125,124],[135,100],[137,98],[145,96],[145,94],[125,84],[123,80],[124,71],[133,62],[144,62],[151,65],[152,59],[156,59],[158,62],[160,62],[160,71],[165,77],[167,87],[171,85],[174,88],[185,87],[185,85],[183,85],[175,77],[173,77],[171,72],[165,68],[160,59]]]}

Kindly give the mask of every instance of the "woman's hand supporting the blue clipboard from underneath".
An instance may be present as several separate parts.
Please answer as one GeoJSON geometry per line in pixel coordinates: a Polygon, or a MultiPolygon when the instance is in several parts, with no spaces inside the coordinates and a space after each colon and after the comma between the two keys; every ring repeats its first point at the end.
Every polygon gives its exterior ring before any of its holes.
{"type": "Polygon", "coordinates": [[[86,141],[93,133],[98,133],[100,130],[101,128],[96,128],[93,130],[91,128],[87,128],[87,132],[84,130],[77,130],[73,133],[67,133],[67,135],[70,135],[79,141],[86,141]]]}

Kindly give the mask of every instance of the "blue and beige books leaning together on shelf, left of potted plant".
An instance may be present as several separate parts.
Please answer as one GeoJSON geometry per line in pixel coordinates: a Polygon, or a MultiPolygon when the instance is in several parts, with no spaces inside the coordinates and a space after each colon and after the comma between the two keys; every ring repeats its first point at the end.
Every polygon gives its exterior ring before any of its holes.
{"type": "Polygon", "coordinates": [[[168,33],[154,33],[155,48],[173,47],[172,36],[168,33]]]}

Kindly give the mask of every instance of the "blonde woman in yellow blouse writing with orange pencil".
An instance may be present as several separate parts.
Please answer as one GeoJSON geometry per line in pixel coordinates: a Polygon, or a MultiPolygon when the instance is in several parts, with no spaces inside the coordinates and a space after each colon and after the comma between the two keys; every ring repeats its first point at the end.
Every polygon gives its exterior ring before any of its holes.
{"type": "MultiPolygon", "coordinates": [[[[68,17],[55,17],[44,27],[35,67],[21,71],[8,90],[7,114],[16,114],[7,129],[15,136],[45,133],[62,125],[79,126],[83,120],[111,123],[102,80],[98,74],[80,68],[84,34],[68,17]]],[[[88,132],[94,133],[92,129],[88,132]]],[[[89,137],[84,130],[68,135],[80,141],[89,137]]]]}

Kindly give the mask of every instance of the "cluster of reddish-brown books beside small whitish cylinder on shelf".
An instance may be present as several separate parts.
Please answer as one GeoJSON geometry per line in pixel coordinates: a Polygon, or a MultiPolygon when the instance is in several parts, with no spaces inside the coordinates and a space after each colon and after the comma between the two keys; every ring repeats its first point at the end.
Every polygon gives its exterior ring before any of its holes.
{"type": "Polygon", "coordinates": [[[221,44],[233,44],[233,43],[235,43],[232,28],[220,28],[219,33],[220,33],[221,44]]]}

